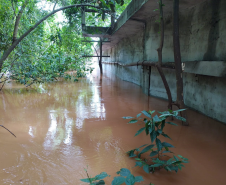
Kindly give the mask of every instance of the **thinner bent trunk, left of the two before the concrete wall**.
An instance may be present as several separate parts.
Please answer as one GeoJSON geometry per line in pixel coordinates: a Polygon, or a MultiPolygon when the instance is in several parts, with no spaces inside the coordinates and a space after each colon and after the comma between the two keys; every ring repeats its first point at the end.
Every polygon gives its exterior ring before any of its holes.
{"type": "Polygon", "coordinates": [[[161,24],[161,39],[160,39],[160,43],[159,43],[159,48],[157,49],[158,64],[156,64],[156,67],[158,69],[158,72],[162,78],[163,84],[166,89],[166,93],[168,96],[168,109],[172,110],[172,95],[171,95],[170,88],[169,88],[168,82],[166,80],[166,77],[162,70],[162,48],[163,48],[163,44],[164,44],[164,20],[163,20],[162,0],[159,0],[159,12],[160,12],[160,24],[161,24]]]}

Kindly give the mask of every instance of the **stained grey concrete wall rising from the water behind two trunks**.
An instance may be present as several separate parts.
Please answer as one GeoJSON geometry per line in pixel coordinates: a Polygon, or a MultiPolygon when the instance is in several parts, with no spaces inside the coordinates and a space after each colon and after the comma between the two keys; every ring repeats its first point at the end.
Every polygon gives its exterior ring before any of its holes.
{"type": "MultiPolygon", "coordinates": [[[[207,0],[180,14],[182,61],[226,61],[226,1],[207,0]]],[[[122,39],[115,47],[104,51],[107,62],[131,63],[158,60],[158,17],[149,19],[144,30],[122,39]]],[[[165,15],[163,62],[173,62],[172,15],[165,15]]],[[[214,65],[213,65],[214,66],[214,65]]],[[[104,64],[105,75],[119,78],[142,87],[146,94],[167,99],[164,85],[155,67],[120,67],[104,64]],[[150,88],[149,88],[150,84],[150,88]]],[[[176,100],[176,77],[173,69],[164,69],[173,99],[176,100]]],[[[207,116],[226,123],[226,78],[184,72],[185,104],[207,116]]]]}

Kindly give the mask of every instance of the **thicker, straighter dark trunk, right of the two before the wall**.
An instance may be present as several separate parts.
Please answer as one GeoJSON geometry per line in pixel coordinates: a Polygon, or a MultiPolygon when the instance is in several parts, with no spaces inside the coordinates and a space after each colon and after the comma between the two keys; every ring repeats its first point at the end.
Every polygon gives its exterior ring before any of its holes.
{"type": "MultiPolygon", "coordinates": [[[[183,97],[183,71],[181,65],[180,39],[179,39],[179,0],[173,1],[173,49],[175,60],[175,71],[177,80],[177,101],[179,109],[185,108],[183,97]]],[[[181,112],[182,117],[187,118],[186,111],[181,112]]],[[[188,125],[188,121],[183,123],[188,125]]]]}

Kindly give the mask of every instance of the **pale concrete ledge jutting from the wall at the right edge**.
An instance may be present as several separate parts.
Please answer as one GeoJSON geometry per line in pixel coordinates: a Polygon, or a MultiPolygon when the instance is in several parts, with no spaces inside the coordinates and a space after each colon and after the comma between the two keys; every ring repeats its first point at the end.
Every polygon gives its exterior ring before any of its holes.
{"type": "Polygon", "coordinates": [[[185,62],[184,72],[226,77],[226,61],[194,61],[185,62]]]}

